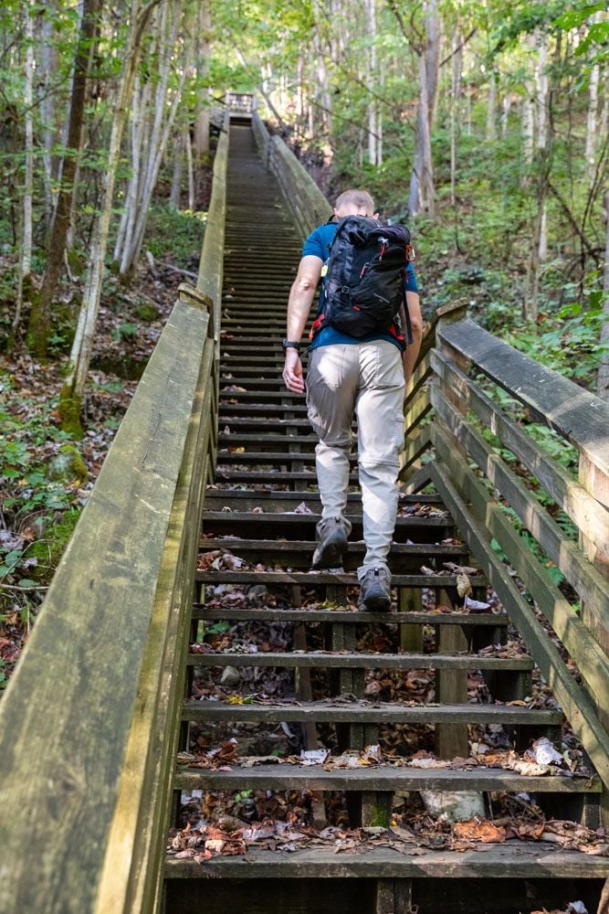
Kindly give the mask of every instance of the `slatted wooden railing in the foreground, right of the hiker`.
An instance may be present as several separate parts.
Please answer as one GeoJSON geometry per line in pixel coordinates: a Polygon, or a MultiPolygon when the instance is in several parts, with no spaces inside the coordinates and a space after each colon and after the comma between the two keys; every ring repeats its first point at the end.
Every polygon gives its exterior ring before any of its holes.
{"type": "Polygon", "coordinates": [[[436,485],[609,788],[609,408],[455,305],[440,309],[425,330],[404,429],[405,486],[436,485]],[[503,392],[499,399],[493,388],[503,392]],[[528,420],[576,449],[578,478],[533,438],[530,423],[509,415],[506,395],[528,420]],[[433,458],[422,461],[432,449],[433,458]],[[555,583],[554,568],[579,607],[555,583]],[[577,665],[582,685],[532,600],[577,665]]]}

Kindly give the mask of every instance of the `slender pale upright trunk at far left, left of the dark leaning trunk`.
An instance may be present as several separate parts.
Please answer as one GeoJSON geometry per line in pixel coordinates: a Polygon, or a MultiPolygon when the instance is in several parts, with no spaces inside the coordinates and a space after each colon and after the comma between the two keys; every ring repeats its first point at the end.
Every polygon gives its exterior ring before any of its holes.
{"type": "Polygon", "coordinates": [[[34,196],[34,16],[30,2],[26,5],[26,86],[24,101],[26,104],[26,148],[25,179],[23,194],[23,227],[21,236],[21,257],[17,300],[13,332],[21,320],[23,303],[31,298],[32,272],[32,197],[34,196]]]}

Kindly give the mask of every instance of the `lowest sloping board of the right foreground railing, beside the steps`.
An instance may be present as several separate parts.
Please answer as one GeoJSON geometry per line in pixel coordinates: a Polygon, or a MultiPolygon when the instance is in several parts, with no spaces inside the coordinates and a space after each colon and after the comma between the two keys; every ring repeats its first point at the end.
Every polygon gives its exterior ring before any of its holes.
{"type": "MultiPolygon", "coordinates": [[[[435,426],[433,430],[435,440],[438,432],[439,430],[435,426]]],[[[468,472],[467,464],[455,457],[455,462],[451,465],[453,478],[461,467],[464,472],[468,472]]],[[[575,683],[562,661],[558,648],[548,638],[541,622],[535,617],[529,604],[510,578],[507,569],[493,552],[488,531],[468,510],[446,471],[436,463],[432,465],[432,475],[438,492],[442,494],[445,504],[449,506],[459,529],[478,558],[488,580],[497,591],[499,600],[508,607],[510,618],[520,629],[533,659],[560,702],[573,731],[581,739],[601,779],[605,784],[609,784],[609,736],[600,723],[590,698],[583,688],[575,683]]]]}

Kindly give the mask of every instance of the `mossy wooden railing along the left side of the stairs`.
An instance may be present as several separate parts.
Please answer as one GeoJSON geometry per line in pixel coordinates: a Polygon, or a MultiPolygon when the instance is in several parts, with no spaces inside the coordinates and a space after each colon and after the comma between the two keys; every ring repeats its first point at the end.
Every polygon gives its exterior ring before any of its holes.
{"type": "Polygon", "coordinates": [[[159,909],[205,482],[227,133],[180,288],[0,704],[0,910],[159,909]]]}

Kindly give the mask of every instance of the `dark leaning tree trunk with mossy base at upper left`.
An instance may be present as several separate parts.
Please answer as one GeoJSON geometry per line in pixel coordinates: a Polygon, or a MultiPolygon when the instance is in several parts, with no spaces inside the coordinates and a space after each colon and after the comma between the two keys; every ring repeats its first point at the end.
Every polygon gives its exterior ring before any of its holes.
{"type": "Polygon", "coordinates": [[[95,20],[98,9],[99,0],[83,0],[79,42],[74,58],[72,97],[69,107],[68,152],[64,155],[61,168],[58,203],[48,245],[47,268],[42,281],[40,295],[37,298],[37,302],[32,305],[27,331],[28,343],[38,358],[44,358],[47,355],[48,337],[51,331],[51,307],[57,292],[66,251],[70,209],[76,189],[74,178],[82,145],[82,126],[89,62],[91,59],[91,40],[95,35],[95,20]]]}

